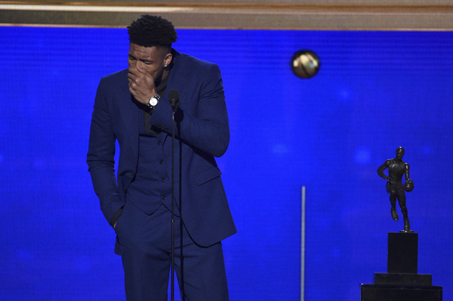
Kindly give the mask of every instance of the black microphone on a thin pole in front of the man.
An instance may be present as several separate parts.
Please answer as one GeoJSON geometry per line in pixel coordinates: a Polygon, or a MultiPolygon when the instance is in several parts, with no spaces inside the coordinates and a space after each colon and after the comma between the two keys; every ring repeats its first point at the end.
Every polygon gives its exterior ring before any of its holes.
{"type": "MultiPolygon", "coordinates": [[[[174,218],[174,174],[175,174],[175,113],[178,108],[179,93],[176,89],[171,89],[169,94],[171,106],[171,301],[175,298],[175,218],[174,218]]],[[[181,221],[180,221],[181,222],[181,221]]]]}

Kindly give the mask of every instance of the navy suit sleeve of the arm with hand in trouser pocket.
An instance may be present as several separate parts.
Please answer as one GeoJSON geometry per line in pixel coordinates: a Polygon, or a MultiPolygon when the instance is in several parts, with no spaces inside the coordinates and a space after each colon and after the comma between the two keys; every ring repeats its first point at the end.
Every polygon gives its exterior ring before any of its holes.
{"type": "Polygon", "coordinates": [[[95,193],[99,197],[102,213],[113,226],[115,221],[112,218],[124,206],[124,202],[118,193],[116,183],[114,170],[116,137],[112,129],[104,82],[101,79],[96,92],[86,163],[89,165],[91,181],[95,193]]]}

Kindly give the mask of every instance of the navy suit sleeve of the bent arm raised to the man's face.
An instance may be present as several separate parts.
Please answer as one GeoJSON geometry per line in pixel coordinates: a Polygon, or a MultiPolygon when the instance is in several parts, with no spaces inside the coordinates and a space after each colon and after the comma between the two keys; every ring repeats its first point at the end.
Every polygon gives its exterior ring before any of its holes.
{"type": "MultiPolygon", "coordinates": [[[[187,83],[187,87],[194,91],[189,93],[194,99],[181,99],[197,106],[195,114],[183,109],[181,138],[193,147],[220,157],[227,151],[230,137],[222,74],[220,68],[211,63],[197,70],[196,75],[201,80],[192,79],[187,83]],[[194,86],[196,84],[199,86],[194,86]]],[[[168,131],[171,129],[171,107],[167,98],[160,102],[163,106],[159,104],[155,108],[150,122],[168,131]]]]}

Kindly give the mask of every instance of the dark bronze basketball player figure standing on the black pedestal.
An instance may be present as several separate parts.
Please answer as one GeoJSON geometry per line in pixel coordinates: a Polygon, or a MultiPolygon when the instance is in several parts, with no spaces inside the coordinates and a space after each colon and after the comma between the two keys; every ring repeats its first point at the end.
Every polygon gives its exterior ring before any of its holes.
{"type": "Polygon", "coordinates": [[[397,199],[399,206],[401,207],[401,213],[403,213],[404,218],[404,231],[410,231],[410,223],[408,218],[408,209],[406,207],[406,193],[410,192],[414,188],[414,183],[409,177],[409,164],[402,160],[404,156],[404,148],[398,147],[395,152],[397,155],[395,158],[388,159],[379,166],[378,174],[381,178],[388,180],[385,185],[385,190],[390,194],[390,204],[392,204],[392,218],[393,220],[399,220],[397,214],[397,199]],[[388,168],[388,177],[384,174],[384,170],[388,168]],[[401,184],[401,179],[405,177],[404,185],[401,184]]]}

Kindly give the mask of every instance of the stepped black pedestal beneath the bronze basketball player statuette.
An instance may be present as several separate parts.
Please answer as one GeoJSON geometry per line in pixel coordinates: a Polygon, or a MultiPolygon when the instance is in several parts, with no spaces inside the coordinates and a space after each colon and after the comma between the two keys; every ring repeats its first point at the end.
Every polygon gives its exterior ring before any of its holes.
{"type": "Polygon", "coordinates": [[[418,234],[388,234],[387,272],[374,273],[374,284],[362,284],[361,301],[442,301],[442,286],[417,274],[418,234]]]}

